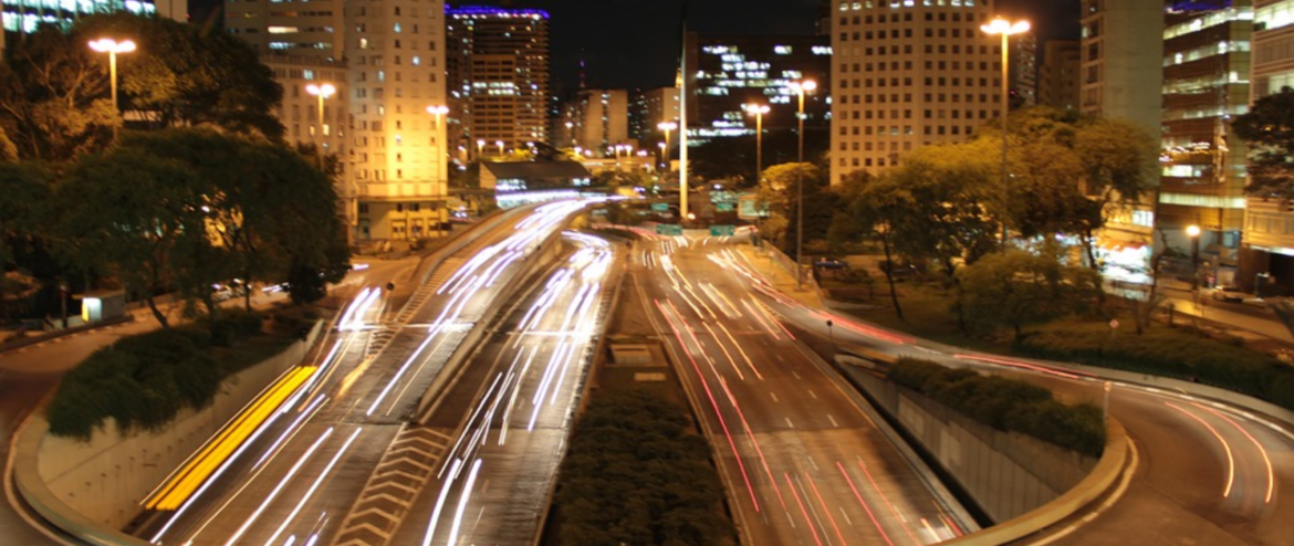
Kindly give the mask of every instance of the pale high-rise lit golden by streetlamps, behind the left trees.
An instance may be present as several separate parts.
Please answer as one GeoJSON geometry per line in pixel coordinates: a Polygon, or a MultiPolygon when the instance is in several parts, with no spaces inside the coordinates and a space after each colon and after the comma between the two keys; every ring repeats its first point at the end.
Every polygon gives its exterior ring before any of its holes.
{"type": "MultiPolygon", "coordinates": [[[[281,79],[291,101],[313,100],[299,89],[307,83],[331,83],[345,93],[325,100],[325,110],[347,106],[347,123],[336,128],[345,142],[335,151],[344,163],[338,193],[352,241],[411,241],[444,230],[453,147],[444,115],[428,110],[448,102],[444,3],[377,0],[343,9],[339,0],[322,0],[303,8],[228,0],[225,27],[256,45],[270,66],[292,58],[283,69],[300,70],[299,78],[281,79]]],[[[291,107],[285,100],[290,135],[294,123],[302,126],[291,107]]]]}

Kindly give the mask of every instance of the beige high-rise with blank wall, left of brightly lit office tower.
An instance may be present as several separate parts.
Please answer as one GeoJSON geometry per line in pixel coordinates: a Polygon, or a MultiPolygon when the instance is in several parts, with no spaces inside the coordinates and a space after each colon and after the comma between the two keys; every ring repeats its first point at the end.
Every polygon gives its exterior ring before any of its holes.
{"type": "Polygon", "coordinates": [[[1082,10],[1082,113],[1159,135],[1163,0],[1083,0],[1082,10]]]}

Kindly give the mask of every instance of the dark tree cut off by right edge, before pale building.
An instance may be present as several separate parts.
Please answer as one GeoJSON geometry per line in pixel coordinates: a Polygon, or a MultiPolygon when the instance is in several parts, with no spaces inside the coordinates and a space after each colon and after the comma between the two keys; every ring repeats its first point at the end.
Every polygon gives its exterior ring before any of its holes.
{"type": "Polygon", "coordinates": [[[1262,198],[1294,197],[1294,89],[1284,87],[1254,101],[1232,128],[1251,150],[1245,191],[1262,198]]]}

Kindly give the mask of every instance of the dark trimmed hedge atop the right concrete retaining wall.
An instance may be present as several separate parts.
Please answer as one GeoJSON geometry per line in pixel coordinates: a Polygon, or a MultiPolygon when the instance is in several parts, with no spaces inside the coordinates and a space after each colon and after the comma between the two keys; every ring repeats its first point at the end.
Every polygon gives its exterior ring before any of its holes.
{"type": "Polygon", "coordinates": [[[1105,449],[1099,406],[1062,404],[1051,391],[1022,380],[916,358],[901,358],[890,367],[889,379],[1002,431],[1026,433],[1092,457],[1105,449]]]}

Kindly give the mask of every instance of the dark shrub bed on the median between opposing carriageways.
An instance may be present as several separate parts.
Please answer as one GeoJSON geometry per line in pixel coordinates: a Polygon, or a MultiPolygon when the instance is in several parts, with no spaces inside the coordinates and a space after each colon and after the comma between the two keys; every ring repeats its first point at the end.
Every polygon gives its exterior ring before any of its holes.
{"type": "Polygon", "coordinates": [[[688,427],[643,391],[593,399],[558,476],[558,543],[735,543],[709,446],[688,427]]]}

